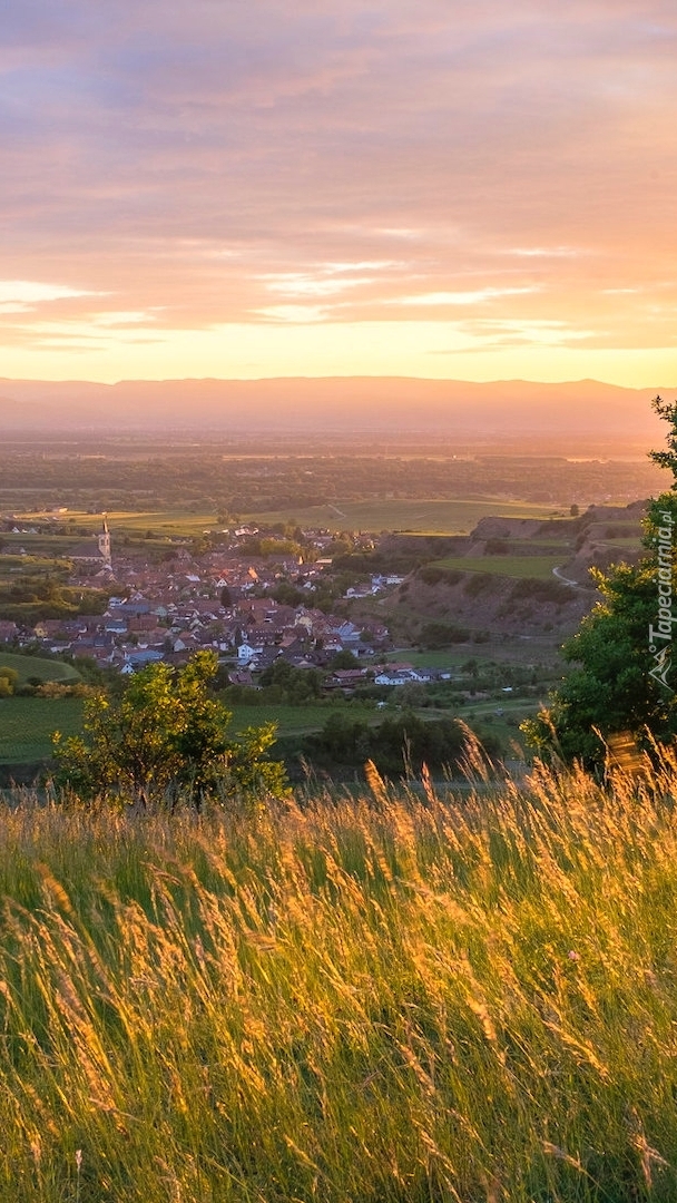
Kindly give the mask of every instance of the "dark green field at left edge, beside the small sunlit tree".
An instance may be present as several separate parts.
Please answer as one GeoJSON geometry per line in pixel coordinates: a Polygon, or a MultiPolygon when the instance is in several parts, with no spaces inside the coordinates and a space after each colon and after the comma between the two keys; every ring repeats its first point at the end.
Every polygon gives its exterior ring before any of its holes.
{"type": "Polygon", "coordinates": [[[55,730],[82,730],[79,698],[0,698],[0,764],[31,764],[49,755],[55,730]]]}

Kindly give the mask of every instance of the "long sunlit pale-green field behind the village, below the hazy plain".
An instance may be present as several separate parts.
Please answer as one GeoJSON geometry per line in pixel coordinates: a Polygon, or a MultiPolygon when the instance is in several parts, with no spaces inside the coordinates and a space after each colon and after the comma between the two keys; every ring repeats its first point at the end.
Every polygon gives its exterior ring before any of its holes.
{"type": "Polygon", "coordinates": [[[403,498],[337,502],[308,509],[290,506],[248,515],[248,521],[261,525],[286,522],[292,518],[302,527],[328,531],[382,531],[416,534],[469,534],[483,517],[540,518],[564,517],[562,510],[530,502],[509,502],[505,498],[462,500],[405,500],[403,498]]]}

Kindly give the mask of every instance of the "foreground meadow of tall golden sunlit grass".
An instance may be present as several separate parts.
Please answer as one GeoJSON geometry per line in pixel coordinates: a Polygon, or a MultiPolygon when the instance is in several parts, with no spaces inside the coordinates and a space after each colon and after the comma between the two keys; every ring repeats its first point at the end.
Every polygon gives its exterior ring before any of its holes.
{"type": "Polygon", "coordinates": [[[0,811],[0,1199],[677,1198],[672,768],[0,811]]]}

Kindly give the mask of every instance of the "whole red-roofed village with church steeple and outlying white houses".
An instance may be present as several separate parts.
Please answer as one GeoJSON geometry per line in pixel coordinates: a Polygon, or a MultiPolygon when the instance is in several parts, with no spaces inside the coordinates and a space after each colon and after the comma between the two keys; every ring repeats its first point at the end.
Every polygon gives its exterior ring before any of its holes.
{"type": "MultiPolygon", "coordinates": [[[[29,561],[26,549],[36,527],[6,516],[2,528],[14,539],[25,537],[26,546],[14,546],[19,565],[29,561]]],[[[327,583],[334,581],[327,555],[331,533],[303,532],[311,550],[307,562],[289,551],[247,553],[243,549],[260,535],[257,528],[240,527],[224,533],[215,550],[197,552],[194,546],[177,545],[171,557],[153,562],[138,549],[131,553],[114,546],[103,518],[96,537],[69,550],[67,581],[71,588],[100,589],[107,599],[102,612],[46,617],[34,626],[0,618],[0,644],[30,646],[41,654],[87,657],[124,675],[159,660],[182,665],[194,652],[209,650],[218,653],[228,682],[243,687],[255,687],[260,675],[279,660],[295,669],[323,670],[323,688],[343,693],[366,680],[402,686],[449,678],[440,669],[388,663],[387,626],[349,616],[351,600],[384,594],[402,576],[372,574],[349,585],[335,608],[328,606],[327,583]],[[293,604],[277,593],[291,595],[293,604]],[[322,608],[316,605],[319,594],[322,608]]],[[[268,537],[271,543],[274,535],[268,537]]],[[[280,547],[286,547],[284,540],[280,547]]]]}

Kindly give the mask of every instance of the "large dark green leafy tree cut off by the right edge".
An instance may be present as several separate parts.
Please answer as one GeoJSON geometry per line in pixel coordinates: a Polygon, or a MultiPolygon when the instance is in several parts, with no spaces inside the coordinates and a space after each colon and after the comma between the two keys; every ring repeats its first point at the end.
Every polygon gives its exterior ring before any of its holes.
{"type": "Polygon", "coordinates": [[[670,492],[649,503],[645,555],[636,564],[592,570],[601,600],[563,647],[574,665],[550,705],[523,724],[541,754],[581,759],[605,757],[604,739],[622,731],[640,743],[647,735],[665,741],[677,734],[677,675],[671,665],[677,606],[677,402],[660,397],[653,408],[669,422],[667,451],[651,451],[672,472],[670,492]],[[675,612],[675,617],[672,616],[675,612]],[[671,680],[672,675],[672,680],[671,680]]]}

